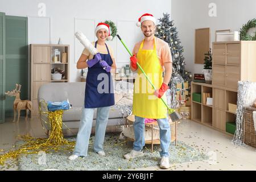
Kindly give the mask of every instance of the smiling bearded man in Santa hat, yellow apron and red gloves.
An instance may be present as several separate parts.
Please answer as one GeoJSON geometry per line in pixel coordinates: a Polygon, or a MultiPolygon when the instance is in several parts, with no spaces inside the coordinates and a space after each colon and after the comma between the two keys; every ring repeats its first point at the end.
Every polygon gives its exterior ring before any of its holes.
{"type": "Polygon", "coordinates": [[[124,155],[125,159],[133,159],[143,156],[142,148],[144,141],[144,120],[145,118],[156,119],[160,129],[160,168],[170,168],[169,146],[171,143],[171,130],[168,121],[168,111],[166,105],[160,100],[166,100],[165,92],[169,88],[168,83],[172,75],[172,57],[168,43],[155,37],[156,19],[151,14],[143,14],[137,26],[141,27],[144,39],[135,44],[133,56],[130,57],[130,67],[133,72],[138,72],[134,84],[133,123],[135,141],[133,150],[124,155]],[[138,69],[137,62],[144,72],[150,77],[156,91],[152,89],[147,80],[143,79],[141,69],[138,69]],[[163,77],[164,72],[164,77],[163,77]],[[146,84],[145,84],[146,81],[146,84]]]}

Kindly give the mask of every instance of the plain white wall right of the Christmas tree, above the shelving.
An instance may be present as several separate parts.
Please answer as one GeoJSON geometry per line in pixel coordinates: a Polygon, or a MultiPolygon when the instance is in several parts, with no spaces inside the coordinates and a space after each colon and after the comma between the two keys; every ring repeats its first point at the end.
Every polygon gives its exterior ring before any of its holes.
{"type": "Polygon", "coordinates": [[[249,19],[256,18],[255,8],[255,0],[172,0],[172,19],[184,46],[186,68],[192,73],[203,69],[203,64],[194,64],[196,28],[210,27],[214,42],[216,30],[239,31],[249,19]],[[216,3],[217,17],[208,15],[209,3],[216,3]]]}

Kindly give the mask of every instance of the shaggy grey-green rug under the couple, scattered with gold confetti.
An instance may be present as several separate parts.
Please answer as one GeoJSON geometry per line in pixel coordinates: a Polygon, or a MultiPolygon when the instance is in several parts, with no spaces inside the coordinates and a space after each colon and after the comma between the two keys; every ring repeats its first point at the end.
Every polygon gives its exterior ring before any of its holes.
{"type": "MultiPolygon", "coordinates": [[[[68,138],[75,140],[75,138],[68,138]]],[[[77,160],[68,160],[71,151],[52,152],[50,154],[29,154],[18,158],[20,170],[93,170],[93,171],[112,171],[135,168],[145,168],[158,166],[160,159],[160,145],[154,146],[154,153],[151,153],[151,145],[143,148],[145,155],[141,158],[126,160],[123,155],[130,152],[132,143],[123,143],[119,140],[119,134],[106,134],[104,151],[106,156],[100,156],[93,152],[94,136],[90,138],[88,156],[77,160]]],[[[208,159],[204,151],[195,150],[183,142],[177,142],[177,146],[171,143],[170,164],[192,162],[208,159]]]]}

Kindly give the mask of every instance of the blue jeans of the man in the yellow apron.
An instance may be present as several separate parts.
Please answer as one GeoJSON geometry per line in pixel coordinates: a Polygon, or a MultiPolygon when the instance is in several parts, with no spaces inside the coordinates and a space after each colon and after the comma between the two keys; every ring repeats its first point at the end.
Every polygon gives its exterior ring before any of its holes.
{"type": "MultiPolygon", "coordinates": [[[[145,145],[144,139],[144,123],[145,118],[141,118],[135,115],[135,122],[133,123],[135,142],[133,143],[133,150],[141,151],[145,145]]],[[[160,156],[169,156],[169,147],[171,143],[171,129],[167,118],[157,119],[160,129],[160,156]]]]}

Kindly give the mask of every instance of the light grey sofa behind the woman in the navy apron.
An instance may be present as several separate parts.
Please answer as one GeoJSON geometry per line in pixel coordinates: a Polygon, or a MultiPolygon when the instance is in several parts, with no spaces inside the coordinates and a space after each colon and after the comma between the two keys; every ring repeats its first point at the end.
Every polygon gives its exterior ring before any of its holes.
{"type": "MultiPolygon", "coordinates": [[[[39,117],[48,134],[47,101],[61,102],[68,100],[71,108],[64,110],[63,129],[79,129],[86,82],[56,82],[44,84],[38,90],[39,117]],[[46,113],[44,113],[46,112],[46,113]]],[[[115,105],[111,106],[108,126],[125,125],[125,118],[131,112],[133,104],[133,83],[114,81],[115,105]]],[[[96,124],[97,109],[94,110],[93,127],[96,124]]]]}

